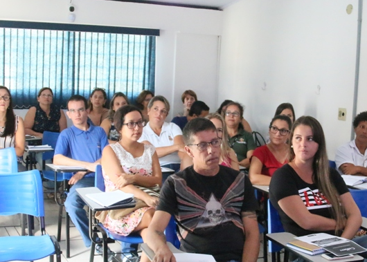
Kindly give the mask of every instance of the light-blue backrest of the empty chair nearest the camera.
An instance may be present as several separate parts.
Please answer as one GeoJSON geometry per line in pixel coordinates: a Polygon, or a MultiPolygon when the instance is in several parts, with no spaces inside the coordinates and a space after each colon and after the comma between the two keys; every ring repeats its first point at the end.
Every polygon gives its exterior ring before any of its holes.
{"type": "Polygon", "coordinates": [[[44,216],[44,194],[37,169],[0,176],[0,215],[44,216]]]}

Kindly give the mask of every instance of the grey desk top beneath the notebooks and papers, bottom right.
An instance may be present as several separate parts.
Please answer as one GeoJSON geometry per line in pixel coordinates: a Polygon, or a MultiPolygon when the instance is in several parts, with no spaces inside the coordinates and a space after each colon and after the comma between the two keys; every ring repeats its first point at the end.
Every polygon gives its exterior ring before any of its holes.
{"type": "MultiPolygon", "coordinates": [[[[297,250],[292,249],[291,247],[287,247],[287,243],[294,241],[294,234],[288,233],[288,232],[282,232],[282,233],[272,233],[267,234],[267,238],[269,240],[274,241],[278,243],[279,245],[282,245],[290,252],[294,252],[298,254],[299,256],[303,257],[303,259],[310,261],[310,262],[328,262],[328,259],[324,259],[321,254],[311,256],[309,254],[298,252],[297,250]]],[[[355,256],[352,259],[338,259],[339,262],[347,262],[347,261],[364,261],[364,258],[359,256],[358,254],[355,254],[355,256]]]]}

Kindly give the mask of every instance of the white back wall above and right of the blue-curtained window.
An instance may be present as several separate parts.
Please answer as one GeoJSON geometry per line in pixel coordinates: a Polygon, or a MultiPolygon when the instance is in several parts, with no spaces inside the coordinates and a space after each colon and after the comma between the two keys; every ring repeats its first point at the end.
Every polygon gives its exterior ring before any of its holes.
{"type": "MultiPolygon", "coordinates": [[[[0,0],[0,17],[68,23],[70,2],[0,0]]],[[[182,110],[181,93],[188,88],[197,91],[199,99],[211,109],[215,108],[222,11],[102,0],[73,0],[72,3],[74,24],[161,30],[161,36],[156,39],[156,94],[170,101],[172,110],[168,120],[182,110]]]]}

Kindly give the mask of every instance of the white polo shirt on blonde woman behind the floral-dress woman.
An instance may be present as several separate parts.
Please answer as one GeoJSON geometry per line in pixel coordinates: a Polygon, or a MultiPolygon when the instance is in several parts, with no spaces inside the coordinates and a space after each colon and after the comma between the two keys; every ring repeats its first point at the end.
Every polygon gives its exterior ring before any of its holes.
{"type": "MultiPolygon", "coordinates": [[[[164,122],[161,134],[156,135],[156,133],[154,133],[150,127],[149,122],[147,122],[143,128],[143,133],[141,134],[141,138],[138,140],[138,142],[148,141],[154,145],[154,147],[168,147],[172,146],[173,139],[176,135],[182,135],[182,131],[177,124],[164,122]]],[[[177,151],[159,158],[159,164],[161,166],[179,163],[181,163],[181,160],[177,151]]]]}

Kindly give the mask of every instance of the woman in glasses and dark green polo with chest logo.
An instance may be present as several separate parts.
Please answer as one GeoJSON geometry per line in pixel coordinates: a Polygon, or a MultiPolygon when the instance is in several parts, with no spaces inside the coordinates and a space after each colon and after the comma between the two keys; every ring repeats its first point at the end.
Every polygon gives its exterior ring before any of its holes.
{"type": "Polygon", "coordinates": [[[229,135],[229,146],[235,151],[240,166],[249,167],[250,158],[253,150],[256,149],[256,144],[253,141],[252,133],[242,129],[242,105],[237,102],[230,102],[224,115],[229,135]]]}

